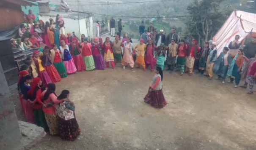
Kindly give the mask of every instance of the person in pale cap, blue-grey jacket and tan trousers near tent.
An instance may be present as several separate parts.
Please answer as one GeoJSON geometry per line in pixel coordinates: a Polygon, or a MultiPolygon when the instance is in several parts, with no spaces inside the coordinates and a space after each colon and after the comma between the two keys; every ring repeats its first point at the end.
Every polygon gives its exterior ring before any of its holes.
{"type": "Polygon", "coordinates": [[[214,67],[214,63],[217,60],[217,43],[216,42],[212,42],[212,47],[209,51],[209,55],[207,57],[207,62],[206,62],[206,72],[204,75],[208,75],[209,76],[209,80],[212,80],[213,77],[213,67],[214,67]]]}

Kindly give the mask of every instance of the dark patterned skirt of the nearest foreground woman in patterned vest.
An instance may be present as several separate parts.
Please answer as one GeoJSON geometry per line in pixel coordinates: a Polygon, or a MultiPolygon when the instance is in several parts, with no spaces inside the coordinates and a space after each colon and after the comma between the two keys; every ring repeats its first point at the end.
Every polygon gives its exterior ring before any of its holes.
{"type": "Polygon", "coordinates": [[[80,134],[80,129],[77,124],[76,118],[65,120],[61,117],[58,117],[59,120],[59,134],[62,139],[74,141],[77,136],[80,134]]]}

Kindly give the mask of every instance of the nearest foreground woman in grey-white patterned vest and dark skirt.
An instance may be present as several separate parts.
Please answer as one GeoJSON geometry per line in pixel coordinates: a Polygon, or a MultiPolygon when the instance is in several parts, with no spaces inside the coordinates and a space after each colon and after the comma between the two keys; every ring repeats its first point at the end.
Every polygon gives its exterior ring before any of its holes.
{"type": "Polygon", "coordinates": [[[74,141],[80,134],[80,129],[74,113],[75,105],[69,100],[68,90],[63,90],[57,99],[66,99],[66,101],[57,105],[59,134],[62,139],[74,141]]]}

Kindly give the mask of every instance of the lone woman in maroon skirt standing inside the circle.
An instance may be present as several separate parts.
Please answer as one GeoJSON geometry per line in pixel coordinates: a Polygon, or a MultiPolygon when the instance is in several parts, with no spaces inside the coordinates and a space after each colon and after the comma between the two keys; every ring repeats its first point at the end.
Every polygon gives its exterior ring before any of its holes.
{"type": "Polygon", "coordinates": [[[144,98],[144,102],[151,104],[155,108],[164,107],[167,102],[162,93],[163,73],[161,67],[156,67],[156,75],[150,84],[149,92],[144,98]]]}

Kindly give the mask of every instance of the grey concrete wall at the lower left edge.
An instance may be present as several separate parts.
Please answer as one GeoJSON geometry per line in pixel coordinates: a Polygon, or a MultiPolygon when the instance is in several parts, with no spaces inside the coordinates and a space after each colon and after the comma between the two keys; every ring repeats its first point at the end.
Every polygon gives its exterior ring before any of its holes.
{"type": "Polygon", "coordinates": [[[9,88],[0,63],[0,150],[20,150],[21,133],[14,105],[7,99],[9,88]]]}

